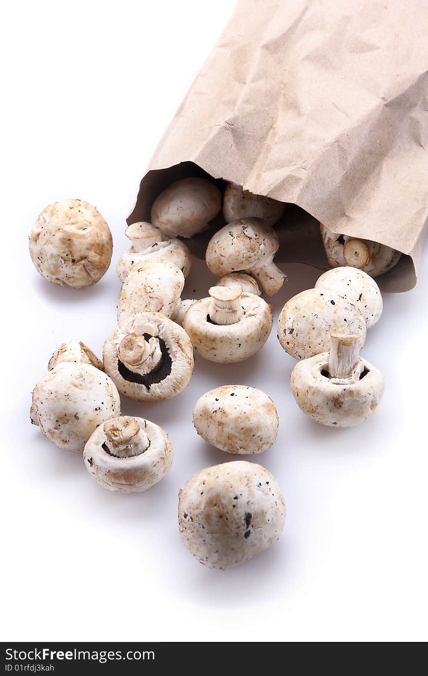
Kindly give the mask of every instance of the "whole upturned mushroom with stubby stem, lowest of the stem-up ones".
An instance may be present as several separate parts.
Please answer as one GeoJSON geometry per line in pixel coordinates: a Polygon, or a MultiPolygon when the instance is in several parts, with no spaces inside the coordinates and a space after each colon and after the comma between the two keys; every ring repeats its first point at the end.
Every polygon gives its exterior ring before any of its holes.
{"type": "Polygon", "coordinates": [[[97,427],[83,459],[101,486],[118,493],[142,493],[164,478],[172,445],[162,427],[144,418],[114,418],[97,427]]]}

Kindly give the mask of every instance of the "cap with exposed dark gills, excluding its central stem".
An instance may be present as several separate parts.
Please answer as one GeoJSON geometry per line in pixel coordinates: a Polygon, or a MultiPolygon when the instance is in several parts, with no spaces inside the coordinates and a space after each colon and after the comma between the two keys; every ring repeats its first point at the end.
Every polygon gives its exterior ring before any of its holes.
{"type": "Polygon", "coordinates": [[[174,397],[189,383],[193,372],[193,348],[179,324],[158,312],[139,312],[120,322],[103,347],[104,370],[120,394],[138,402],[162,402],[174,397]],[[119,358],[119,345],[127,335],[158,337],[162,364],[141,376],[128,370],[119,358]]]}

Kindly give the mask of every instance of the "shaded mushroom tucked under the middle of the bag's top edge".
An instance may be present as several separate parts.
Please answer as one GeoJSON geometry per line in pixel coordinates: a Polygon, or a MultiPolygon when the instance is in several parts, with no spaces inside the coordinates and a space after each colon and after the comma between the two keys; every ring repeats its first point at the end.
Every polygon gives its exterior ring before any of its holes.
{"type": "Polygon", "coordinates": [[[238,218],[261,218],[273,225],[281,218],[285,204],[264,195],[254,195],[236,183],[229,183],[223,195],[223,216],[227,223],[238,218]]]}

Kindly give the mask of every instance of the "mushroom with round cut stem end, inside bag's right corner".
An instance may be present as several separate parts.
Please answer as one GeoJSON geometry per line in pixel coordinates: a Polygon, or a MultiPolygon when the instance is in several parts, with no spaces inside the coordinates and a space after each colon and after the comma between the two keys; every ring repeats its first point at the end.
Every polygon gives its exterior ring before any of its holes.
{"type": "Polygon", "coordinates": [[[394,268],[402,255],[396,249],[369,239],[337,235],[323,224],[320,228],[327,260],[333,268],[351,266],[377,277],[394,268]]]}

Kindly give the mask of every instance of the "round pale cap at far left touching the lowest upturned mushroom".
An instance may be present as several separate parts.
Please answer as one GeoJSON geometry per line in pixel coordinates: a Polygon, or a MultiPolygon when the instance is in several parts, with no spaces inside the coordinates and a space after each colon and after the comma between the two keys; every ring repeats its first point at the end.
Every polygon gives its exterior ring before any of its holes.
{"type": "Polygon", "coordinates": [[[98,425],[119,415],[116,385],[91,364],[60,363],[32,392],[32,422],[68,451],[82,451],[98,425]]]}

